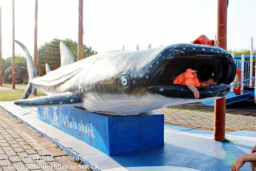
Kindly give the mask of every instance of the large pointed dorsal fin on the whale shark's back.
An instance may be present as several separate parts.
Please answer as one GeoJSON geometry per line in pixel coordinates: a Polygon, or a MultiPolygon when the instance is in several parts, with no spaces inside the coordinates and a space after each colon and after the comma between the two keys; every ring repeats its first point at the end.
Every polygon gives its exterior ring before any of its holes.
{"type": "Polygon", "coordinates": [[[66,65],[69,65],[75,62],[75,58],[72,52],[63,41],[60,42],[60,51],[61,51],[61,67],[64,67],[66,65]]]}

